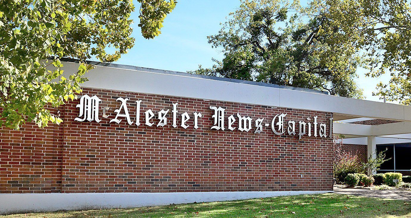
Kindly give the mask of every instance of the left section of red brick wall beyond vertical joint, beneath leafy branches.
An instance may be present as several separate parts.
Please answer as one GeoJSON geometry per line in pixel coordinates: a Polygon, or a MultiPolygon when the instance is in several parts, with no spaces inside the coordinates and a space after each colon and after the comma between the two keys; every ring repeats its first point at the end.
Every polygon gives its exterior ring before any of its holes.
{"type": "Polygon", "coordinates": [[[0,193],[60,192],[61,175],[61,125],[0,129],[0,193]]]}

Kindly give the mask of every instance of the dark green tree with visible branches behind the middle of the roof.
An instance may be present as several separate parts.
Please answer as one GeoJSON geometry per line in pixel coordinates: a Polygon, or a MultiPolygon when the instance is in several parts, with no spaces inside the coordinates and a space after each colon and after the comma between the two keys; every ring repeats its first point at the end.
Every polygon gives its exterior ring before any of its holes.
{"type": "Polygon", "coordinates": [[[361,97],[354,79],[363,58],[352,43],[339,39],[338,25],[319,3],[241,0],[218,34],[208,37],[224,58],[192,72],[361,97]],[[324,31],[325,26],[335,31],[324,31]]]}

